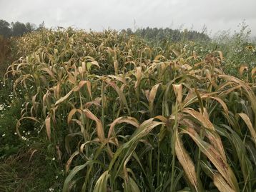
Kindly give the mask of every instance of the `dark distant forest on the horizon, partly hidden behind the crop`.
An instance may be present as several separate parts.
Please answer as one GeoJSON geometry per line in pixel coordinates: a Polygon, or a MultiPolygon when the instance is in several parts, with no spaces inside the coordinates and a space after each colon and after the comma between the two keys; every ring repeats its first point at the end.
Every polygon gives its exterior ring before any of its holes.
{"type": "MultiPolygon", "coordinates": [[[[30,33],[32,31],[37,31],[42,28],[45,28],[44,22],[39,24],[37,27],[36,24],[31,24],[27,22],[26,24],[21,23],[19,21],[9,22],[0,19],[0,36],[4,36],[4,38],[8,38],[10,36],[22,36],[23,34],[30,33]]],[[[210,37],[204,32],[192,31],[184,29],[169,29],[169,28],[140,28],[136,31],[132,31],[132,29],[123,29],[122,31],[126,31],[128,35],[135,34],[137,36],[141,36],[143,39],[147,41],[162,41],[167,39],[169,41],[177,42],[182,40],[202,40],[209,41],[210,37]]]]}

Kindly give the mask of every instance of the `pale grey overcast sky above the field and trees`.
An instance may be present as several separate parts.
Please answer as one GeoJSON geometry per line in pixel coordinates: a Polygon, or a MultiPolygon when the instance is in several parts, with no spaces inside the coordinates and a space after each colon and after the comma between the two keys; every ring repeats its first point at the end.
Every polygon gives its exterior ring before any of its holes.
{"type": "Polygon", "coordinates": [[[256,36],[255,8],[256,0],[0,0],[0,19],[95,31],[134,26],[202,31],[205,25],[211,34],[239,30],[245,19],[256,36]]]}

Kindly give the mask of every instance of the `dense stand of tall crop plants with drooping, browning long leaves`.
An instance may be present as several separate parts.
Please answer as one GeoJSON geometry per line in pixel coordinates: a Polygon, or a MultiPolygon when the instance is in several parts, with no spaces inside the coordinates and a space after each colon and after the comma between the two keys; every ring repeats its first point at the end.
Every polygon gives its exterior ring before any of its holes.
{"type": "Polygon", "coordinates": [[[54,146],[62,191],[255,191],[256,68],[237,78],[221,51],[117,31],[45,29],[16,44],[4,76],[24,90],[16,133],[31,121],[54,146]]]}

